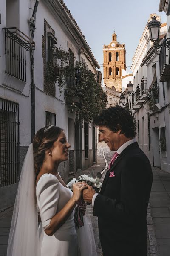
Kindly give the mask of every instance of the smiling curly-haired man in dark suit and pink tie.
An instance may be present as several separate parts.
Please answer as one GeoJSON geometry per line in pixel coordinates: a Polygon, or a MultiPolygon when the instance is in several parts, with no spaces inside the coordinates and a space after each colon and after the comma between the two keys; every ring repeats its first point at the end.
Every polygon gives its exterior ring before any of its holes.
{"type": "Polygon", "coordinates": [[[113,158],[100,194],[88,186],[84,200],[98,217],[103,256],[147,256],[147,206],[153,174],[150,162],[136,142],[136,121],[122,107],[102,111],[94,120],[100,141],[113,158]]]}

